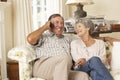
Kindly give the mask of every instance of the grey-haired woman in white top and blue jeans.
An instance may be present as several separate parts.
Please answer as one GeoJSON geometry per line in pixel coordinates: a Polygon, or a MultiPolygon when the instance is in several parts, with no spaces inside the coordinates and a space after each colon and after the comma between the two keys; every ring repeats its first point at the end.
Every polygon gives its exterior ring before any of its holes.
{"type": "Polygon", "coordinates": [[[94,24],[89,18],[76,20],[77,40],[71,42],[71,55],[75,70],[86,72],[92,80],[113,80],[106,68],[104,41],[94,39],[94,24]]]}

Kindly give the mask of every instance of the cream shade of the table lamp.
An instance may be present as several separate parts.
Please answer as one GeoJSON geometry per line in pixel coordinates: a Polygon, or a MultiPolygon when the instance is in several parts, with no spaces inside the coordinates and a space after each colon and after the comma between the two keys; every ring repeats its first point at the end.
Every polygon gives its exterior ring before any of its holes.
{"type": "Polygon", "coordinates": [[[88,5],[88,4],[93,4],[92,0],[67,0],[66,4],[67,5],[88,5]]]}

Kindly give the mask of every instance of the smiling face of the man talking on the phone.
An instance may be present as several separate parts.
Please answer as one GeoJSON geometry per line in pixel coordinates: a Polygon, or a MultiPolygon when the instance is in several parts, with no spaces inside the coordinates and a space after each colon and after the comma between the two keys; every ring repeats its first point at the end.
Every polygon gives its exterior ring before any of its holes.
{"type": "Polygon", "coordinates": [[[62,35],[64,30],[64,20],[62,17],[55,17],[51,19],[51,22],[54,24],[52,32],[55,33],[58,37],[62,35]]]}

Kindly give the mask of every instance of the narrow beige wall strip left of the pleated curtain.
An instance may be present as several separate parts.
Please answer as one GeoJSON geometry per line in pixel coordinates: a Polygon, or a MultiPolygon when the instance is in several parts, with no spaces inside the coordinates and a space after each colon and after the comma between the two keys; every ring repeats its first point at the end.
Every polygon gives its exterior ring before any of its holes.
{"type": "Polygon", "coordinates": [[[6,54],[13,47],[12,3],[5,10],[5,46],[6,54]]]}

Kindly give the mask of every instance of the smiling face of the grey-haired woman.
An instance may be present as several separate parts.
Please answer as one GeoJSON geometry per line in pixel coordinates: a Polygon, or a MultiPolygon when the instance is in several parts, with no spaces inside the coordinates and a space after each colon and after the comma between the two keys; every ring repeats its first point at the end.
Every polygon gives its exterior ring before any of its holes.
{"type": "Polygon", "coordinates": [[[85,27],[84,24],[79,22],[79,23],[76,24],[76,30],[75,31],[76,31],[78,36],[82,37],[82,36],[89,33],[89,28],[85,27]]]}

